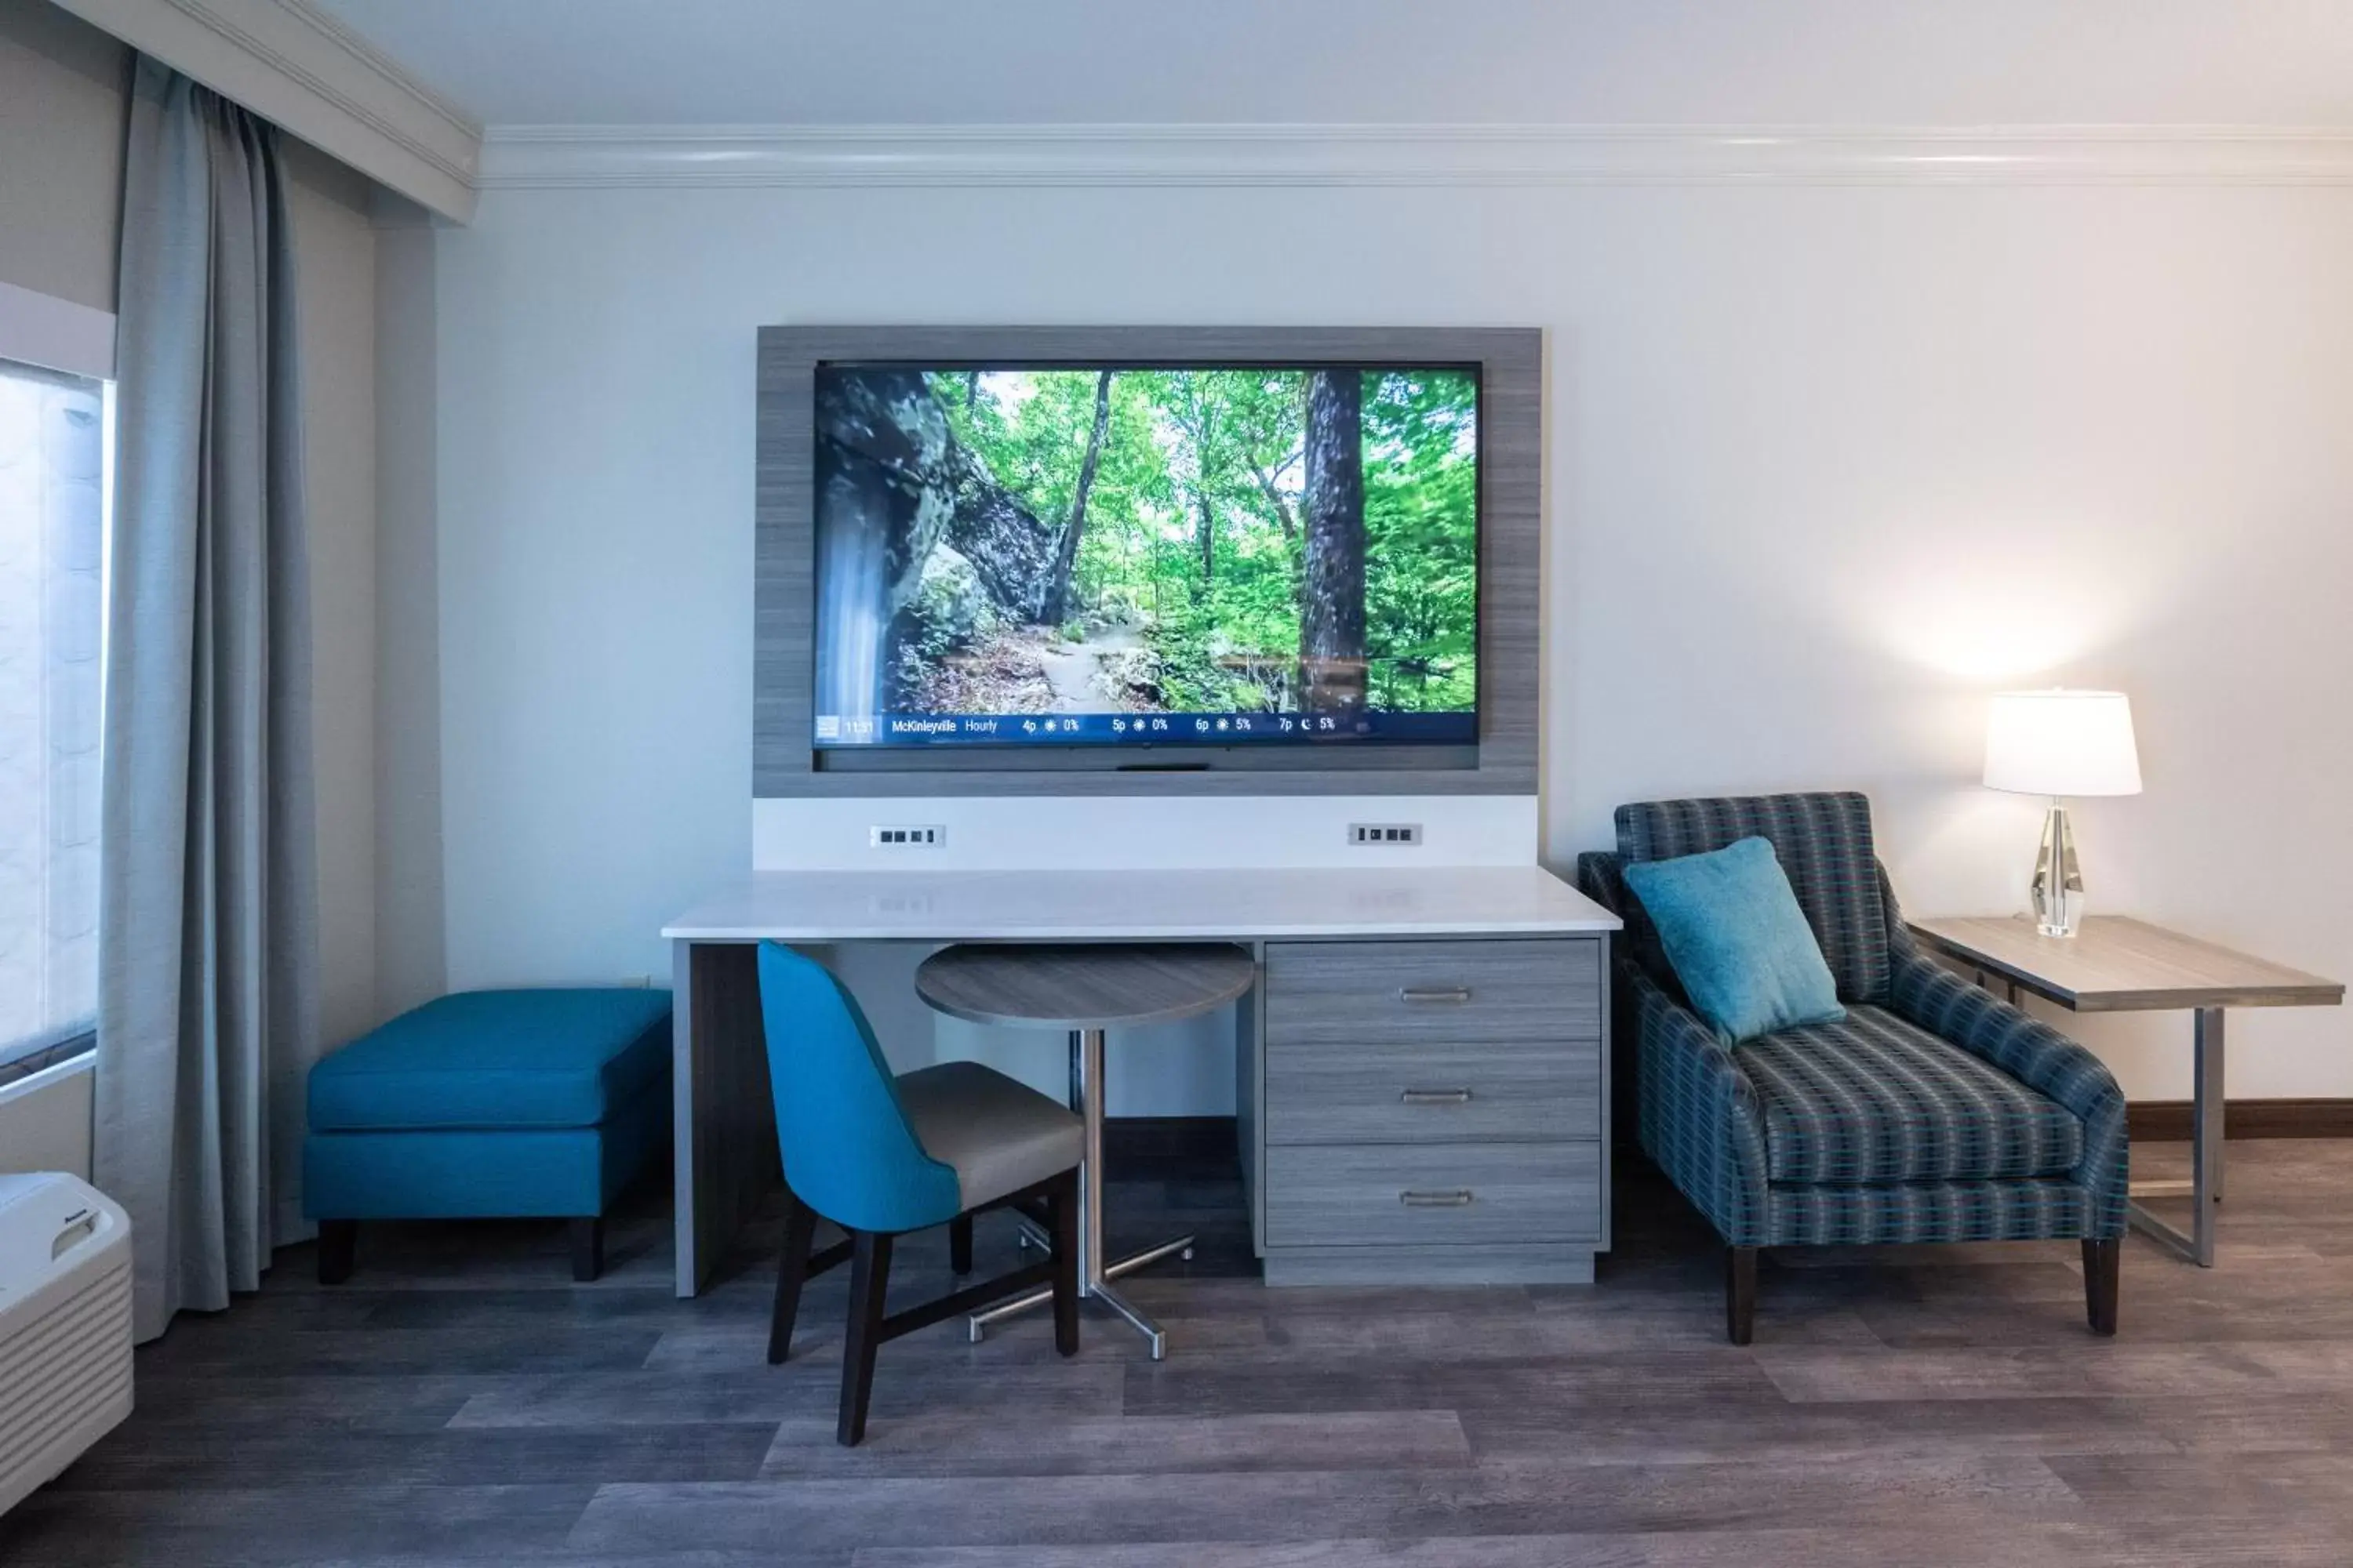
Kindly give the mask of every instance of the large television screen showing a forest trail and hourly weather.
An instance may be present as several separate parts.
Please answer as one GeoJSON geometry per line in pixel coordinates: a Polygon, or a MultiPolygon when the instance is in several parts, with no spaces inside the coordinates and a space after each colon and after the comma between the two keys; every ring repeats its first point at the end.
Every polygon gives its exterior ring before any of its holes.
{"type": "Polygon", "coordinates": [[[1478,369],[816,371],[814,745],[1478,738],[1478,369]]]}

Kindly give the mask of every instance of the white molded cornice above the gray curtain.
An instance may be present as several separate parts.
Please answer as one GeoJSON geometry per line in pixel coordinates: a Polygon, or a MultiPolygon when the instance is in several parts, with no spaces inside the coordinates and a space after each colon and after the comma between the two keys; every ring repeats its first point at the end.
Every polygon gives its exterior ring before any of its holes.
{"type": "Polygon", "coordinates": [[[376,183],[464,223],[482,129],[313,0],[56,0],[376,183]]]}

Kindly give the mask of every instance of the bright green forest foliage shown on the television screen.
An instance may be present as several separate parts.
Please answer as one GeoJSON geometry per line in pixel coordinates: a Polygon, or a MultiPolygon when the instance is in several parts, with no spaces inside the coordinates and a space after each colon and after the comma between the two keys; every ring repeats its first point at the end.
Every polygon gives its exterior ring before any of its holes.
{"type": "MultiPolygon", "coordinates": [[[[1304,637],[1325,623],[1353,628],[1358,616],[1365,705],[1475,703],[1478,381],[1468,371],[934,371],[927,386],[976,470],[1054,536],[1040,567],[1052,576],[1040,595],[1047,625],[1035,635],[1099,649],[1125,672],[1136,710],[1341,703],[1318,698],[1304,637]],[[1315,376],[1346,376],[1325,390],[1355,395],[1360,444],[1322,451],[1322,473],[1344,473],[1353,456],[1362,501],[1346,487],[1320,494],[1346,496],[1322,517],[1322,541],[1360,552],[1360,611],[1329,602],[1355,592],[1355,574],[1311,581],[1313,559],[1344,559],[1318,555],[1308,515],[1315,376]]],[[[969,656],[986,663],[986,654],[969,656]]]]}

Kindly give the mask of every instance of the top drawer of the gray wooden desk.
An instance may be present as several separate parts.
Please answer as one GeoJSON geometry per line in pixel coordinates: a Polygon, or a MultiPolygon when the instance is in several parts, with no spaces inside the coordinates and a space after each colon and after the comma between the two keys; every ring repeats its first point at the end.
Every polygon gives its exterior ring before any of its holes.
{"type": "Polygon", "coordinates": [[[1600,1039],[1595,940],[1271,943],[1266,1044],[1600,1039]]]}

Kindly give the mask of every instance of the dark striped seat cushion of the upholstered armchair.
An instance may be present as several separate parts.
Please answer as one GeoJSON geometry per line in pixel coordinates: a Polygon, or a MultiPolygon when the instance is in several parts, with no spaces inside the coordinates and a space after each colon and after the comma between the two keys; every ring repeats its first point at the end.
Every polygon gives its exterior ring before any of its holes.
{"type": "Polygon", "coordinates": [[[1875,1006],[1734,1048],[1765,1105],[1774,1182],[2066,1175],[2082,1121],[2000,1067],[1875,1006]]]}

